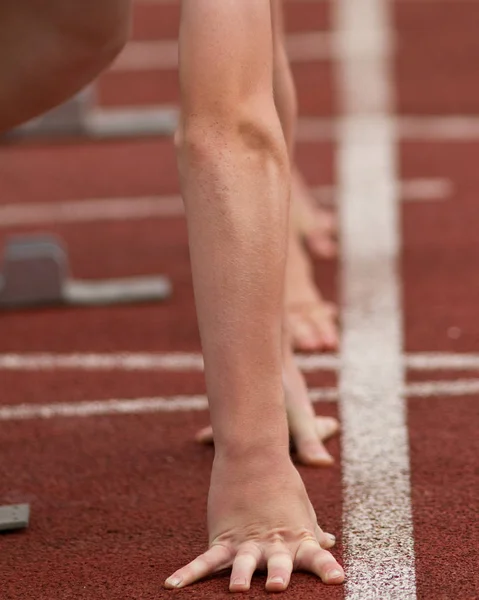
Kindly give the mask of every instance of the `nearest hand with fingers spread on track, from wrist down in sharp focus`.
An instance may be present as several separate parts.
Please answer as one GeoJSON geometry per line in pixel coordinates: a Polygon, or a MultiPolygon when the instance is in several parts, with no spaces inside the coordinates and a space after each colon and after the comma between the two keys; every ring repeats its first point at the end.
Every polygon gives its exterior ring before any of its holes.
{"type": "Polygon", "coordinates": [[[250,588],[256,570],[267,571],[266,590],[288,587],[295,570],[324,583],[344,580],[342,567],[325,548],[334,536],[317,524],[301,477],[291,461],[251,457],[215,458],[208,498],[209,549],[169,577],[165,586],[185,587],[232,568],[230,591],[250,588]]]}

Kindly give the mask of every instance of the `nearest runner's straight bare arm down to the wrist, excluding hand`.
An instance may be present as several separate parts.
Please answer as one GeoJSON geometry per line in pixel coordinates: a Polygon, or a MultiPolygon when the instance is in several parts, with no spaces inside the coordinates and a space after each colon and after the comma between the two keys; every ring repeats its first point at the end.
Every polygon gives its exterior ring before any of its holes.
{"type": "Polygon", "coordinates": [[[184,1],[180,48],[179,165],[217,452],[286,451],[289,167],[271,93],[269,1],[184,1]]]}

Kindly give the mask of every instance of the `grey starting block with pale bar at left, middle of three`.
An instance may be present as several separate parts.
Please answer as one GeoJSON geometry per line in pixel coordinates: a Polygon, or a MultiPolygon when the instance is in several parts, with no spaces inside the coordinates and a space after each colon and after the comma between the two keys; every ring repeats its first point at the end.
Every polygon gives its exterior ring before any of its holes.
{"type": "Polygon", "coordinates": [[[55,236],[11,238],[0,274],[0,309],[155,302],[172,291],[161,275],[86,281],[71,279],[69,273],[67,250],[55,236]]]}

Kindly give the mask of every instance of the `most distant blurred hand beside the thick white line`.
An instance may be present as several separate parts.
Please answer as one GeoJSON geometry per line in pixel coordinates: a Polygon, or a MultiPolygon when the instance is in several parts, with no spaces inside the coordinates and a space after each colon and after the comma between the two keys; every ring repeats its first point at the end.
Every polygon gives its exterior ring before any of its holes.
{"type": "Polygon", "coordinates": [[[297,168],[292,174],[291,203],[294,226],[311,254],[317,258],[336,256],[336,216],[318,205],[297,168]]]}

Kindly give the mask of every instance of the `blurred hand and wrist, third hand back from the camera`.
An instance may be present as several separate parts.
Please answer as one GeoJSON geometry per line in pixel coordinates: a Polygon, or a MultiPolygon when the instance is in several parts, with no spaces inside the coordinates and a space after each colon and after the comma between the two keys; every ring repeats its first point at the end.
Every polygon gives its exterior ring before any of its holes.
{"type": "Polygon", "coordinates": [[[339,344],[336,307],[321,297],[310,258],[294,231],[289,235],[285,297],[293,348],[306,352],[336,350],[339,344]]]}

